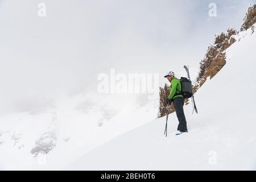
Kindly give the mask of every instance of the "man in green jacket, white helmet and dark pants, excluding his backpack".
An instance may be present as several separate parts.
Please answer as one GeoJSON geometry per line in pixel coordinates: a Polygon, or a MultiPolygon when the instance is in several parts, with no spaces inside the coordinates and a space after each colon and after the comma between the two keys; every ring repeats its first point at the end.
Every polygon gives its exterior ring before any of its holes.
{"type": "Polygon", "coordinates": [[[179,133],[177,133],[176,135],[179,135],[184,132],[188,132],[187,121],[186,121],[184,110],[183,110],[184,97],[183,97],[183,94],[181,93],[180,80],[175,77],[174,72],[168,72],[167,75],[164,77],[171,82],[171,90],[166,102],[167,104],[171,104],[172,102],[174,102],[176,115],[177,115],[177,118],[179,119],[179,126],[177,127],[177,130],[179,131],[179,133]]]}

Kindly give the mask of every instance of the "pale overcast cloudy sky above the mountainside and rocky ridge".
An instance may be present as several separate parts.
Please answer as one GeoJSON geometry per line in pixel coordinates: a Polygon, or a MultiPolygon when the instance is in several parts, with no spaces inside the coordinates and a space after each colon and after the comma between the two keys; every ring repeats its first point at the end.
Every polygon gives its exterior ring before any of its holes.
{"type": "Polygon", "coordinates": [[[159,73],[163,85],[168,71],[185,76],[186,64],[195,77],[214,34],[239,30],[249,3],[256,1],[0,0],[0,113],[97,92],[98,73],[110,68],[159,73]]]}

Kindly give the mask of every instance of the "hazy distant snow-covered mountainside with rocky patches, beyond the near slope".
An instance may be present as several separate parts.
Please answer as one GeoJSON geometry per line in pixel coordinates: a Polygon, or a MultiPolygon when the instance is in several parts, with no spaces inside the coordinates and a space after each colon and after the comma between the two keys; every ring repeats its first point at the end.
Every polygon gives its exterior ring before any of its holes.
{"type": "Polygon", "coordinates": [[[56,105],[0,117],[0,169],[61,169],[158,111],[158,101],[146,95],[88,94],[56,105]]]}

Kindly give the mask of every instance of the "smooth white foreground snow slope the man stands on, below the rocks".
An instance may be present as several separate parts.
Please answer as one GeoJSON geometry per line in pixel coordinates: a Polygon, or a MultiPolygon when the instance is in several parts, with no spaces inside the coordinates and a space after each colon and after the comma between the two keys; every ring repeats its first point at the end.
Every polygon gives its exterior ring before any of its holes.
{"type": "Polygon", "coordinates": [[[256,33],[240,32],[226,65],[195,94],[199,114],[184,108],[189,133],[175,136],[177,118],[156,119],[90,151],[65,169],[256,169],[256,33]]]}

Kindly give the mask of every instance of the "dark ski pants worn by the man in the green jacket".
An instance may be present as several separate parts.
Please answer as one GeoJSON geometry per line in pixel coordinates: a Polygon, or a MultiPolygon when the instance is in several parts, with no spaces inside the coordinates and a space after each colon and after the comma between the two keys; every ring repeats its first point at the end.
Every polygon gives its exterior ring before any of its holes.
{"type": "Polygon", "coordinates": [[[176,97],[174,98],[174,108],[176,110],[177,118],[179,119],[179,126],[177,130],[181,132],[187,132],[187,121],[184,115],[183,110],[184,105],[184,98],[183,97],[176,97]]]}

